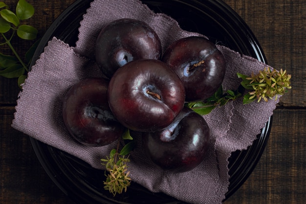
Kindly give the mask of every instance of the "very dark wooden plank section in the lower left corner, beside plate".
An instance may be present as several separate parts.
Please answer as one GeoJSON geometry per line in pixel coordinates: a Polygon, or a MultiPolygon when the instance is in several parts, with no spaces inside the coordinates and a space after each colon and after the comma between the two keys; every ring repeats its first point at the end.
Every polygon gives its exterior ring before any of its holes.
{"type": "Polygon", "coordinates": [[[0,108],[0,204],[74,204],[45,173],[29,137],[11,127],[14,108],[0,108]]]}

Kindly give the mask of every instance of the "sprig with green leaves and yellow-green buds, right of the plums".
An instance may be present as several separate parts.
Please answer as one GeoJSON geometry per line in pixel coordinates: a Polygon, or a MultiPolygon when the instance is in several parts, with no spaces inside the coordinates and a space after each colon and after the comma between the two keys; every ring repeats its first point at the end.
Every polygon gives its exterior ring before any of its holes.
{"type": "Polygon", "coordinates": [[[223,106],[229,101],[236,100],[243,96],[243,104],[249,104],[257,99],[260,102],[262,99],[268,101],[278,95],[283,95],[288,89],[291,89],[291,75],[287,74],[286,70],[277,71],[276,69],[264,68],[258,74],[252,73],[251,76],[246,76],[237,73],[237,76],[242,79],[237,90],[227,90],[223,93],[222,86],[208,99],[200,102],[189,102],[185,105],[196,113],[201,115],[210,113],[218,106],[223,106]],[[247,93],[243,94],[245,90],[247,93]]]}

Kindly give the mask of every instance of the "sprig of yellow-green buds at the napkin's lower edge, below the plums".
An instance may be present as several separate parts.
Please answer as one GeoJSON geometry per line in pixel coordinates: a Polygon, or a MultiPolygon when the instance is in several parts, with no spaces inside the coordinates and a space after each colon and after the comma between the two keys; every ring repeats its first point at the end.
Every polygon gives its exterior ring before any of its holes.
{"type": "Polygon", "coordinates": [[[122,137],[119,138],[117,149],[112,149],[109,157],[101,159],[102,165],[106,167],[104,181],[104,189],[108,190],[115,196],[127,191],[127,187],[131,185],[130,171],[128,171],[128,163],[130,162],[129,154],[134,149],[135,142],[132,140],[130,131],[127,130],[122,137]],[[121,139],[131,140],[119,152],[121,139]]]}

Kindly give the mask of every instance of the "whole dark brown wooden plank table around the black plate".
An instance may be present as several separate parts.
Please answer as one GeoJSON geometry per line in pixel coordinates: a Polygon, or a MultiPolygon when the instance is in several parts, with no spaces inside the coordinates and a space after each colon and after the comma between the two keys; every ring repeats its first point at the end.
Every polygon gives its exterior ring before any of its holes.
{"type": "MultiPolygon", "coordinates": [[[[17,0],[4,0],[11,9],[17,0]]],[[[42,36],[74,0],[28,0],[30,24],[42,36]]],[[[306,202],[306,1],[224,0],[254,32],[268,64],[292,74],[292,90],[274,112],[268,144],[257,167],[225,204],[302,204],[306,202]]],[[[30,45],[17,38],[18,52],[30,45]]],[[[1,52],[10,54],[1,47],[1,52]]],[[[11,128],[19,88],[0,78],[0,204],[73,204],[50,180],[29,137],[11,128]]]]}

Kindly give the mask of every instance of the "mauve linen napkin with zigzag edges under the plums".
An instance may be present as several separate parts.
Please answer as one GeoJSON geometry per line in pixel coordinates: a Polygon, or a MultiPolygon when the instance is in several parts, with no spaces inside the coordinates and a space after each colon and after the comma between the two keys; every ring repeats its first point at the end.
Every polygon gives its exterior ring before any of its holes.
{"type": "MultiPolygon", "coordinates": [[[[182,30],[175,20],[155,14],[138,0],[95,0],[91,3],[79,28],[76,47],[53,38],[40,59],[28,73],[19,94],[12,126],[46,144],[83,159],[93,168],[102,169],[100,159],[109,155],[116,144],[87,147],[69,136],[61,109],[66,91],[86,77],[102,77],[94,62],[95,39],[107,23],[119,18],[134,18],[148,23],[159,35],[163,51],[175,40],[200,35],[182,30]],[[107,5],[107,6],[106,6],[107,5]]],[[[256,59],[218,45],[226,62],[224,90],[240,84],[237,72],[250,75],[267,65],[256,59]]],[[[204,115],[211,128],[211,145],[206,159],[194,170],[172,174],[151,163],[141,148],[131,153],[131,179],[153,192],[163,192],[192,204],[220,204],[228,190],[228,158],[236,150],[246,149],[261,132],[277,101],[253,102],[242,105],[241,100],[230,102],[204,115]]],[[[137,142],[141,137],[136,136],[137,142]]]]}

